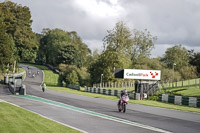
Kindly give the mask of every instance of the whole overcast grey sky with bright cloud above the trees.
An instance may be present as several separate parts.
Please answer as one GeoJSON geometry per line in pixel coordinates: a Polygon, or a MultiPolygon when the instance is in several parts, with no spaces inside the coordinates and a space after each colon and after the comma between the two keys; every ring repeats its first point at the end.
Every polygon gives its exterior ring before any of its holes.
{"type": "Polygon", "coordinates": [[[34,32],[43,28],[76,31],[92,50],[102,50],[107,30],[123,21],[131,30],[148,29],[157,36],[152,57],[162,56],[176,44],[200,52],[200,0],[11,1],[30,8],[34,32]]]}

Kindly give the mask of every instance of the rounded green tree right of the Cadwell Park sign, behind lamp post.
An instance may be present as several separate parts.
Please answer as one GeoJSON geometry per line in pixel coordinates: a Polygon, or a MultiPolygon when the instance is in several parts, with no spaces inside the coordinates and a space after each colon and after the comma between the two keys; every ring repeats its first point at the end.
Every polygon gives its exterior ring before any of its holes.
{"type": "Polygon", "coordinates": [[[168,68],[173,69],[174,67],[174,70],[179,71],[181,68],[189,64],[188,50],[181,45],[175,45],[166,50],[162,61],[167,65],[168,68]]]}

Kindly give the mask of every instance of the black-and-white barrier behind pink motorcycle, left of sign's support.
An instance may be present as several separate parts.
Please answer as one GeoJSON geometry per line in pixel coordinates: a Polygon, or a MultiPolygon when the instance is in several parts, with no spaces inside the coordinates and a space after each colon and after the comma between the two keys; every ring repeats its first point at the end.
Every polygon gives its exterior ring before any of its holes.
{"type": "MultiPolygon", "coordinates": [[[[85,92],[90,93],[98,93],[98,94],[104,94],[104,95],[110,95],[110,96],[120,96],[122,93],[121,90],[111,90],[111,89],[100,89],[100,88],[92,88],[85,86],[85,92]]],[[[130,99],[140,100],[140,93],[130,93],[128,92],[130,99]]]]}

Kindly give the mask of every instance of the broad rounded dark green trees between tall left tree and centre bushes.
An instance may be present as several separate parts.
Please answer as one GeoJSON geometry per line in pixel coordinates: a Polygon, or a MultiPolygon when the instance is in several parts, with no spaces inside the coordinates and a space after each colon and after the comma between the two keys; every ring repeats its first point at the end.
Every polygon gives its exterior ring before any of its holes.
{"type": "Polygon", "coordinates": [[[76,32],[43,29],[38,60],[57,66],[60,63],[82,67],[86,64],[89,48],[76,32]]]}

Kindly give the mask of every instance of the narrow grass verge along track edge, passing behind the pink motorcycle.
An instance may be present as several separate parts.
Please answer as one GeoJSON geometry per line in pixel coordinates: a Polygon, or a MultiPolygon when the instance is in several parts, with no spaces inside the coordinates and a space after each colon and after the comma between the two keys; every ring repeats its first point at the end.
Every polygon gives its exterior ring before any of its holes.
{"type": "MultiPolygon", "coordinates": [[[[72,93],[72,94],[77,94],[77,95],[82,95],[82,96],[110,99],[110,100],[115,100],[115,101],[119,100],[119,98],[117,96],[109,96],[109,95],[102,95],[102,94],[96,94],[96,93],[77,91],[77,90],[73,90],[73,89],[69,89],[69,88],[65,88],[65,87],[47,87],[47,88],[51,89],[51,90],[55,90],[55,91],[64,92],[64,93],[72,93]]],[[[159,101],[130,100],[129,102],[135,103],[135,104],[147,105],[147,106],[154,106],[154,107],[161,107],[161,108],[176,109],[176,110],[200,113],[200,108],[174,105],[174,104],[163,103],[163,102],[159,102],[159,101]]]]}

